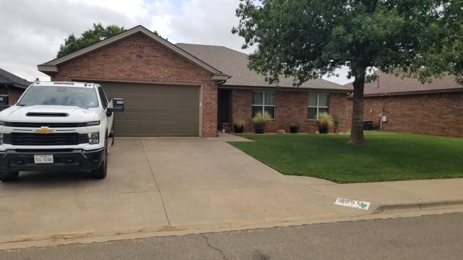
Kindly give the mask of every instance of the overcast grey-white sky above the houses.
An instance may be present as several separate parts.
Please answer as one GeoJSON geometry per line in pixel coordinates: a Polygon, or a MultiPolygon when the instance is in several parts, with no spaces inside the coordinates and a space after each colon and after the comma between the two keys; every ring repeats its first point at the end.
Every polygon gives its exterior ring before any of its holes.
{"type": "MultiPolygon", "coordinates": [[[[173,43],[221,45],[242,50],[238,0],[0,0],[0,68],[33,81],[50,77],[37,64],[56,57],[70,33],[79,36],[93,23],[131,28],[143,25],[173,43]]],[[[327,78],[345,84],[346,70],[327,78]]]]}

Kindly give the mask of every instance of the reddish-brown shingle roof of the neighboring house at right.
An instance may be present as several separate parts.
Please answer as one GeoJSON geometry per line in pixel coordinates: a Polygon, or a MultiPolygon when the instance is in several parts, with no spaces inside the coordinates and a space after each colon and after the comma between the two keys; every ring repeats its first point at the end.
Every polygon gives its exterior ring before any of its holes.
{"type": "MultiPolygon", "coordinates": [[[[431,83],[422,84],[418,79],[396,77],[392,74],[386,74],[381,70],[376,70],[375,74],[379,75],[378,82],[370,82],[365,84],[363,95],[381,95],[400,92],[419,92],[430,90],[445,90],[463,89],[463,86],[455,81],[455,77],[446,75],[441,79],[433,78],[431,83]]],[[[344,87],[353,89],[352,82],[347,83],[344,87]]]]}

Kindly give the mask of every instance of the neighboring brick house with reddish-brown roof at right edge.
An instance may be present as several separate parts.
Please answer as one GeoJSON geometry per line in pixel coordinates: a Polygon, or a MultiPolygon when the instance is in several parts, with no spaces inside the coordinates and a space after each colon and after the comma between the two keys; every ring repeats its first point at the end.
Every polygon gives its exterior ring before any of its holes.
{"type": "MultiPolygon", "coordinates": [[[[417,79],[375,71],[379,81],[365,84],[363,120],[381,127],[381,109],[387,117],[382,130],[463,137],[463,86],[451,75],[422,84],[417,79]]],[[[344,85],[353,88],[352,83],[344,85]]],[[[349,96],[349,122],[352,98],[349,96]]]]}

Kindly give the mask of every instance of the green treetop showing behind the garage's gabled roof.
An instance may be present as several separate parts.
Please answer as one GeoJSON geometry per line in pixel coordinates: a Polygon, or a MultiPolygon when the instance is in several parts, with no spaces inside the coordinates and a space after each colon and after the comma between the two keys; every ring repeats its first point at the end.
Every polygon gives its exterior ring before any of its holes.
{"type": "Polygon", "coordinates": [[[119,27],[118,25],[108,25],[103,27],[101,23],[93,24],[93,29],[88,29],[87,31],[82,32],[81,37],[75,38],[74,33],[72,33],[68,36],[68,38],[65,38],[64,44],[59,46],[59,51],[56,54],[56,57],[62,57],[124,31],[124,26],[119,27]]]}

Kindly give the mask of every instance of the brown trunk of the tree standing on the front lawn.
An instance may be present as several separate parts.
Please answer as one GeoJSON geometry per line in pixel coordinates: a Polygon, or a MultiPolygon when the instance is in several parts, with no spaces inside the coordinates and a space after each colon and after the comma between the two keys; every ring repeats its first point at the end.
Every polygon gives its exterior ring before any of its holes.
{"type": "Polygon", "coordinates": [[[363,136],[363,88],[365,86],[365,75],[361,77],[356,76],[353,85],[352,129],[350,129],[349,143],[364,144],[366,143],[363,136]]]}

